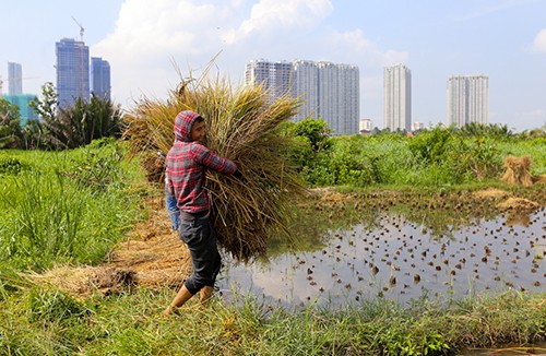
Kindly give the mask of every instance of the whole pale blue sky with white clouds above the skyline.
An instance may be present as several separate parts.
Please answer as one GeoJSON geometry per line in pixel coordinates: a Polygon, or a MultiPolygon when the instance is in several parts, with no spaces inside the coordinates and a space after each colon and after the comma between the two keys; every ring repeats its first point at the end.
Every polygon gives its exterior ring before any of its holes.
{"type": "MultiPolygon", "coordinates": [[[[353,64],[360,118],[383,128],[383,69],[412,71],[412,121],[446,123],[447,80],[489,76],[489,122],[546,124],[546,0],[1,1],[0,75],[22,64],[23,91],[56,84],[55,43],[80,39],[111,67],[112,99],[131,110],[166,99],[181,78],[244,84],[253,59],[353,64]]],[[[3,92],[8,92],[4,82],[3,92]]]]}

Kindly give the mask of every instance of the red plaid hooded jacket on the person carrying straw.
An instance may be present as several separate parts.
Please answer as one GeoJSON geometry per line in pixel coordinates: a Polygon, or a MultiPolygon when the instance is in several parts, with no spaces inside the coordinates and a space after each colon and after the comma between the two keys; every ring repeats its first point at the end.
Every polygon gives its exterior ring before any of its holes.
{"type": "Polygon", "coordinates": [[[204,188],[206,168],[229,175],[237,170],[235,163],[191,140],[191,127],[198,117],[199,114],[190,110],[177,115],[175,143],[165,161],[168,186],[175,193],[178,207],[187,213],[199,213],[211,207],[204,188]]]}

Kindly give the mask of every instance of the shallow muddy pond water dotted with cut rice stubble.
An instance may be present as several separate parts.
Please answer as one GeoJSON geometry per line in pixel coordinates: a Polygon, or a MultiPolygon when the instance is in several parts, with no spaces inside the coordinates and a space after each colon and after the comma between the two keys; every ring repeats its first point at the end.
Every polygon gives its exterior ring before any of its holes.
{"type": "Polygon", "coordinates": [[[221,292],[227,299],[250,292],[265,304],[295,308],[546,292],[544,207],[519,221],[500,214],[448,226],[439,236],[432,229],[379,214],[373,224],[325,230],[304,251],[227,266],[221,292]]]}

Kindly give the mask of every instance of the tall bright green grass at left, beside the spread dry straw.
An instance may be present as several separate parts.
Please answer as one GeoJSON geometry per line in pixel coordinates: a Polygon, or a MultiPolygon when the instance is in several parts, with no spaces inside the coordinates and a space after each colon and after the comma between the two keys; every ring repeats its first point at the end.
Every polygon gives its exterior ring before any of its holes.
{"type": "Polygon", "coordinates": [[[5,175],[0,191],[0,262],[36,271],[99,262],[138,216],[138,197],[127,194],[138,163],[121,161],[117,145],[22,154],[33,169],[5,175]]]}

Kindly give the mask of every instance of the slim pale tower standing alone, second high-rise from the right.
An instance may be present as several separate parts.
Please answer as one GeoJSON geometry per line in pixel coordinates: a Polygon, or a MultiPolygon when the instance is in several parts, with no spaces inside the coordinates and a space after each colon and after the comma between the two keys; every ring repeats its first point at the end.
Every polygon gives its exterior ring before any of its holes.
{"type": "Polygon", "coordinates": [[[411,130],[412,72],[403,64],[383,70],[383,120],[391,131],[411,130]]]}

